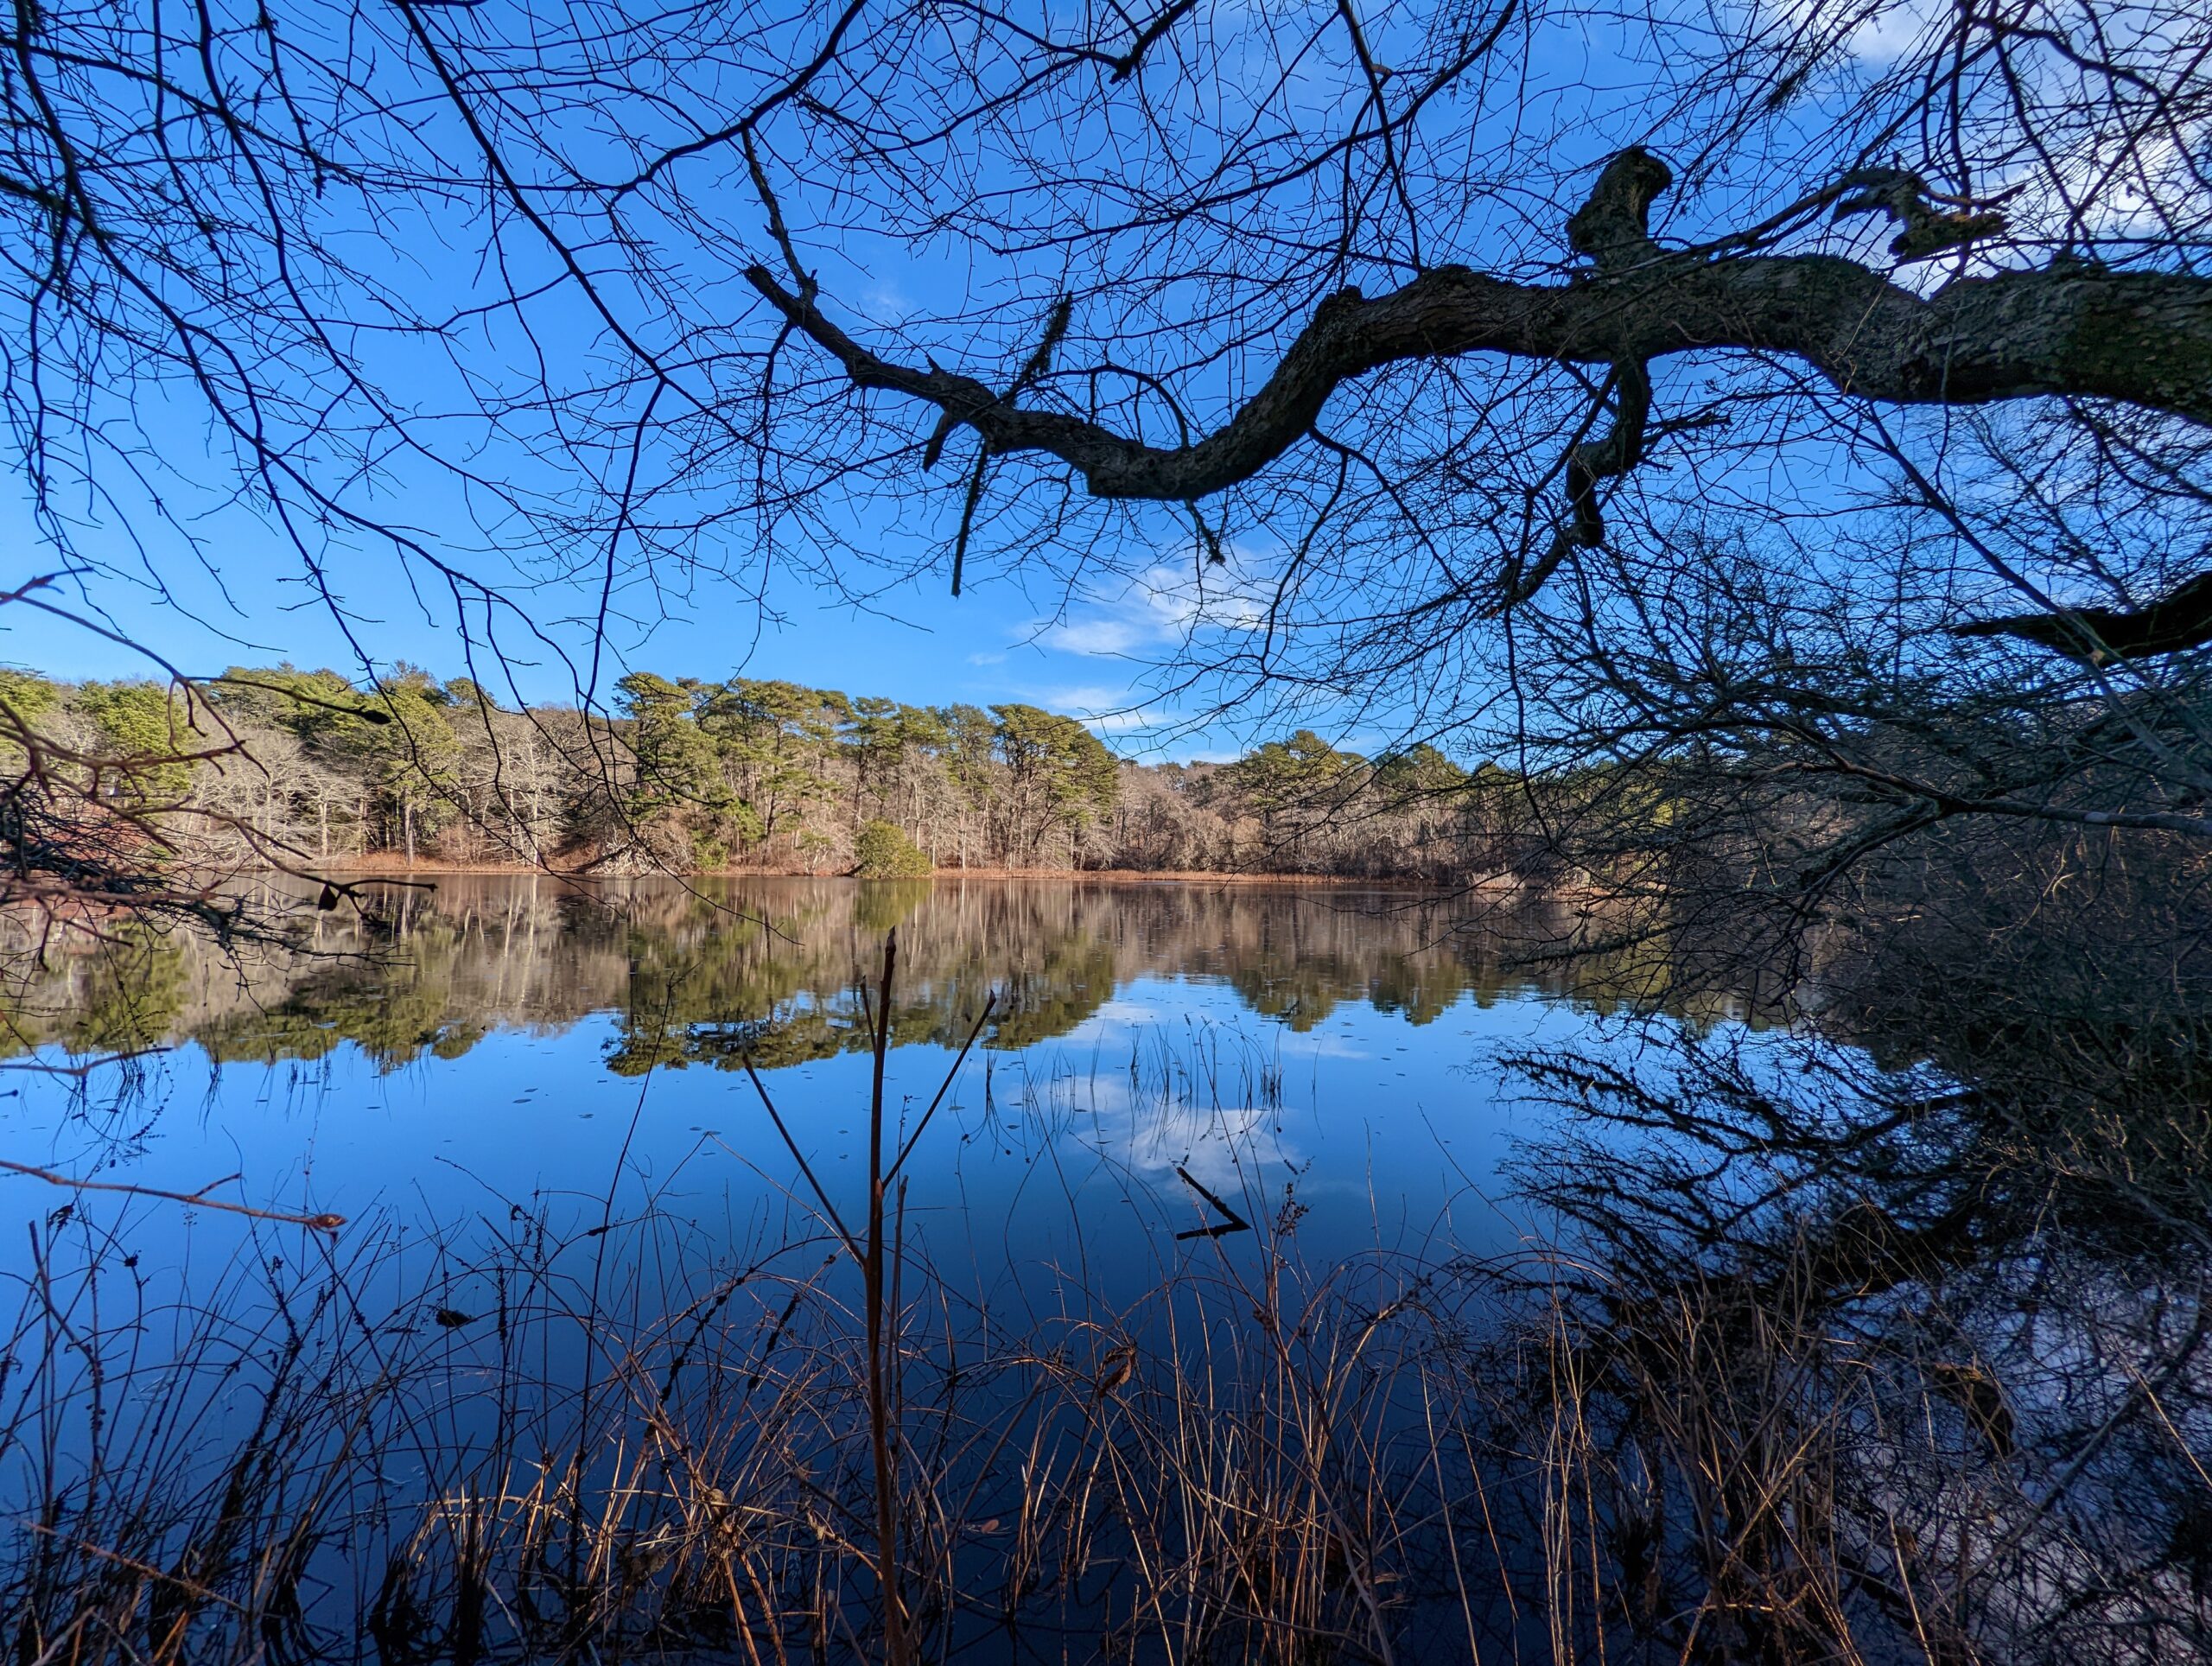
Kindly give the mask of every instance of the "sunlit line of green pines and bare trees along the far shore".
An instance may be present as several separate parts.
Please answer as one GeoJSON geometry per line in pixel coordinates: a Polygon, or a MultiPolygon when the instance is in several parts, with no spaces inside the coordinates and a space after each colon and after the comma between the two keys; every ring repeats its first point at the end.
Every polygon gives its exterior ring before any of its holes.
{"type": "Polygon", "coordinates": [[[49,847],[124,830],[201,865],[1429,881],[1513,865],[1515,777],[1433,746],[1369,759],[1298,730],[1225,763],[1139,763],[1037,706],[752,677],[637,670],[599,712],[502,704],[416,666],[369,684],[234,666],[192,686],[11,670],[0,737],[9,799],[62,827],[49,847]]]}

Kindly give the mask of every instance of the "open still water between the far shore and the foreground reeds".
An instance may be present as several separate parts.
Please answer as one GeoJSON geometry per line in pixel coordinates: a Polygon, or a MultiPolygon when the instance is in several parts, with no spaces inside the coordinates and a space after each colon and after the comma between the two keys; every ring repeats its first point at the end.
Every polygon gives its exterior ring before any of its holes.
{"type": "MultiPolygon", "coordinates": [[[[1500,1162],[1533,1115],[1498,1058],[1613,1022],[1610,985],[1535,976],[1544,929],[1500,934],[1473,900],[504,876],[365,900],[314,916],[292,951],[179,936],[62,956],[18,998],[15,1157],[354,1224],[560,1224],[615,1199],[790,1235],[818,1210],[743,1060],[849,1199],[856,991],[896,927],[907,1131],[993,1002],[907,1168],[916,1241],[940,1261],[1144,1277],[1219,1204],[1290,1208],[1321,1254],[1498,1250],[1522,1232],[1500,1162]],[[135,1058],[58,1069],[117,1053],[135,1058]]],[[[15,1179],[11,1201],[40,1217],[58,1195],[15,1179]]],[[[159,1252],[223,1230],[173,1206],[124,1215],[159,1252]]]]}

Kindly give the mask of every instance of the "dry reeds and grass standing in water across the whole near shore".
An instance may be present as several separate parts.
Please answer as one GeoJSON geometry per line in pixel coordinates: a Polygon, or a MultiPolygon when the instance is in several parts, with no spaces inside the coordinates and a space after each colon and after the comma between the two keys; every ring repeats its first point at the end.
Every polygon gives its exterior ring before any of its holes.
{"type": "MultiPolygon", "coordinates": [[[[2185,1188],[2124,1217],[2124,1164],[2062,1142],[2033,1168],[1973,1095],[1730,1047],[1524,1062],[1604,1137],[1526,1177],[1562,1226],[1513,1266],[1307,1261],[1298,1208],[1248,1193],[1141,1294],[1051,1268],[1057,1305],[1009,1303],[907,1230],[880,1115],[865,1215],[818,1197],[761,1239],[611,1186],[473,1239],[230,1217],[237,1252],[186,1277],[133,1266],[86,1199],[35,1235],[0,1363],[7,1642],[20,1666],[2212,1653],[2185,1188]]],[[[1077,1115],[1091,1082],[1024,1108],[1077,1115]]],[[[1157,1044],[1115,1091],[1172,1126],[1267,1104],[1281,1066],[1157,1044]]]]}

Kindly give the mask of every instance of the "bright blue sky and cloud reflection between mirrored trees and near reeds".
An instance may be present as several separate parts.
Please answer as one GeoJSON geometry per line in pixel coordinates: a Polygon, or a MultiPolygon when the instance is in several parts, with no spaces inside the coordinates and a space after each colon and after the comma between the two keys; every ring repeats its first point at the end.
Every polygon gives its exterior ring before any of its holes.
{"type": "MultiPolygon", "coordinates": [[[[1250,1013],[1219,980],[1139,978],[1053,1042],[971,1055],[909,1164],[909,1212],[931,1254],[973,1257],[991,1277],[1004,1257],[1051,1259],[1071,1246],[1135,1257],[1117,1266],[1175,1254],[1175,1232],[1219,1219],[1177,1168],[1248,1219],[1276,1219],[1296,1201],[1310,1252],[1495,1243],[1506,1232],[1495,1173],[1526,1113],[1482,1055],[1593,1022],[1515,998],[1462,1000],[1416,1029],[1345,1002],[1296,1033],[1250,1013]]],[[[595,1221],[617,1173],[617,1215],[653,1195],[708,1232],[781,1230],[799,1208],[799,1175],[745,1075],[615,1077],[604,1066],[615,1044],[613,1018],[597,1018],[555,1033],[495,1031],[460,1058],[425,1055],[389,1073],[354,1047],[314,1064],[221,1069],[184,1049],[113,1108],[102,1108],[113,1077],[95,1075],[80,1097],[24,1073],[11,1150],[181,1193],[239,1175],[217,1195],[334,1210],[358,1230],[372,1219],[504,1219],[518,1204],[555,1224],[595,1221]]],[[[907,1117],[949,1064],[936,1047],[891,1055],[907,1117]]],[[[807,1159],[854,1210],[867,1069],[852,1053],[768,1073],[807,1159]]],[[[66,1197],[29,1179],[7,1193],[27,1217],[66,1197]]],[[[155,1257],[228,1230],[221,1215],[192,1219],[170,1204],[86,1195],[82,1206],[126,1219],[155,1257]]]]}

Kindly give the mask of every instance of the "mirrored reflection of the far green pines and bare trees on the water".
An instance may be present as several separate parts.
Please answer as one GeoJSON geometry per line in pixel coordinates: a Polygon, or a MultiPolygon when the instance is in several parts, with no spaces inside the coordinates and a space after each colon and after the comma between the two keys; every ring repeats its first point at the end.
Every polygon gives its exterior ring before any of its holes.
{"type": "MultiPolygon", "coordinates": [[[[902,1044],[958,1047],[989,989],[989,1047],[1064,1035],[1139,976],[1225,982],[1296,1029],[1343,1002],[1429,1022],[1455,1000],[1544,987],[1608,1002],[1619,967],[1540,978],[1473,905],[1265,887],[1086,883],[664,881],[456,876],[389,887],[369,918],[321,916],[292,951],[119,938],[35,973],[18,1047],[197,1042],[217,1060],[321,1058],[354,1042],[392,1069],[500,1029],[613,1011],[613,1069],[783,1064],[858,1047],[854,969],[900,927],[902,1044]]],[[[1559,936],[1526,916],[1535,938],[1559,936]]],[[[1641,960],[1663,958],[1648,945],[1641,960]]],[[[1619,956],[1615,956],[1619,958],[1619,956]]],[[[1641,962],[1639,962],[1641,965],[1641,962]]],[[[1644,991],[1655,985],[1637,971],[1644,991]]]]}

